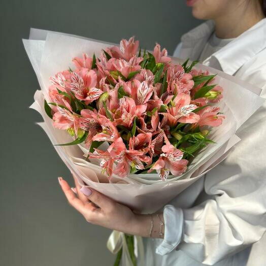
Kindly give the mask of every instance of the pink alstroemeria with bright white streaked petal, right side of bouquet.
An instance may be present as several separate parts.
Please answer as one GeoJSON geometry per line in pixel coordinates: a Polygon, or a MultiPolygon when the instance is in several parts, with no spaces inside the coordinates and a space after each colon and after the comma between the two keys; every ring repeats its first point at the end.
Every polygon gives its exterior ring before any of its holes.
{"type": "Polygon", "coordinates": [[[174,106],[167,109],[167,113],[161,113],[167,117],[170,126],[180,123],[196,123],[200,117],[192,111],[197,108],[190,104],[190,96],[184,93],[177,94],[174,99],[174,106]]]}

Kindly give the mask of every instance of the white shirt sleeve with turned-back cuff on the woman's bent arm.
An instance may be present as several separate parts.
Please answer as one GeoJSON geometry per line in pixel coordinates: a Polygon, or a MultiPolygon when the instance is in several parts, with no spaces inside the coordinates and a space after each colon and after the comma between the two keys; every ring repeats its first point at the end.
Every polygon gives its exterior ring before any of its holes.
{"type": "MultiPolygon", "coordinates": [[[[265,94],[264,88],[261,95],[265,94]]],[[[239,128],[237,135],[241,142],[206,175],[207,200],[182,210],[165,206],[165,236],[156,250],[158,254],[177,248],[196,261],[213,265],[263,236],[266,231],[265,103],[239,128]]]]}

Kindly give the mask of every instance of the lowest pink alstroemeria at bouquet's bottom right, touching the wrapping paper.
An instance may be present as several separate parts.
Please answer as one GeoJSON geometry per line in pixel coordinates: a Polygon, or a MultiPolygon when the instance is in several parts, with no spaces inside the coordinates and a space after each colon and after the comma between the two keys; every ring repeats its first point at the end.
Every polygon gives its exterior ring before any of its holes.
{"type": "Polygon", "coordinates": [[[188,160],[182,159],[183,152],[170,143],[161,147],[163,153],[153,164],[148,173],[156,170],[162,181],[165,181],[170,172],[174,176],[182,175],[187,169],[188,160]]]}

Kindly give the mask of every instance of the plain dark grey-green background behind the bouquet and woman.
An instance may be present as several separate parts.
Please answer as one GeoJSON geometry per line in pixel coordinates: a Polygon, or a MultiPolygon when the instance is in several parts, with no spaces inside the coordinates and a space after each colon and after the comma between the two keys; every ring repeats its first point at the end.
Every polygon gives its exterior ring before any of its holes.
{"type": "Polygon", "coordinates": [[[200,21],[184,0],[2,0],[0,8],[1,219],[0,265],[112,265],[110,230],[91,225],[70,207],[57,183],[72,177],[28,109],[37,78],[22,46],[29,28],[118,43],[136,36],[171,55],[200,21]]]}

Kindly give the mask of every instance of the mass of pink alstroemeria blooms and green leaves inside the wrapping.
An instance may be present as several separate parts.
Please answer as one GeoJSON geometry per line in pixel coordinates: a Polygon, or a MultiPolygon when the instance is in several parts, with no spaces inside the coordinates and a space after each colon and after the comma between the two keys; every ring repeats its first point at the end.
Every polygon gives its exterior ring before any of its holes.
{"type": "Polygon", "coordinates": [[[73,58],[75,69],[50,78],[45,110],[54,127],[84,143],[87,158],[101,160],[109,177],[157,172],[161,180],[182,175],[224,118],[216,103],[215,75],[194,70],[196,61],[173,63],[156,44],[152,53],[134,38],[99,57],[73,58]],[[103,142],[110,146],[97,148],[103,142]]]}

